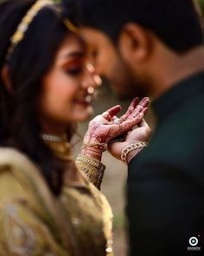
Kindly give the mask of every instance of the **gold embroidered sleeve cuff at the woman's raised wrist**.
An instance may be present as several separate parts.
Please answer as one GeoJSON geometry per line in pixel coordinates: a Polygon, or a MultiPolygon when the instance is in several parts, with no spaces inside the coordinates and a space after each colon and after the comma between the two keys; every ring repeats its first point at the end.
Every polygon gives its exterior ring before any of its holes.
{"type": "Polygon", "coordinates": [[[95,187],[100,189],[105,172],[104,164],[90,156],[79,154],[76,159],[76,166],[81,172],[86,174],[88,180],[91,181],[95,187]]]}

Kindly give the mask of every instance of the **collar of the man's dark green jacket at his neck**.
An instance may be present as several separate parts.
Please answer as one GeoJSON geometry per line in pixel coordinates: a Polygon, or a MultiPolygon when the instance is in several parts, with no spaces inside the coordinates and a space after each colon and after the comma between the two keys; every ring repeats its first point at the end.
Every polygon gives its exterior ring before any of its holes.
{"type": "Polygon", "coordinates": [[[204,71],[176,83],[160,98],[152,102],[157,120],[161,121],[176,108],[188,102],[194,95],[201,94],[201,91],[204,91],[204,71]]]}

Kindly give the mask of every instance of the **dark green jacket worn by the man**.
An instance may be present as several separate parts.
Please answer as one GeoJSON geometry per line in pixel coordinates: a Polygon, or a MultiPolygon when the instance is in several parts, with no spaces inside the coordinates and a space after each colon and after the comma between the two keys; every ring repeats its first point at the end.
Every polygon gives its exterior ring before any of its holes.
{"type": "Polygon", "coordinates": [[[150,146],[129,165],[131,256],[195,255],[189,251],[199,250],[195,247],[201,247],[200,255],[204,251],[204,72],[176,84],[152,108],[157,126],[150,146]],[[193,246],[191,237],[195,237],[193,246]]]}

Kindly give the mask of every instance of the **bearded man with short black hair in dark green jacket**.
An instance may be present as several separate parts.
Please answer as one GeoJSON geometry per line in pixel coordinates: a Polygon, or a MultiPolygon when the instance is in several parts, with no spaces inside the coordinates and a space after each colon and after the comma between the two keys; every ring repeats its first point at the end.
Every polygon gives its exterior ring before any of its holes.
{"type": "Polygon", "coordinates": [[[120,97],[149,95],[157,117],[150,146],[127,159],[131,256],[201,253],[204,47],[195,1],[80,0],[80,12],[99,74],[120,97]]]}

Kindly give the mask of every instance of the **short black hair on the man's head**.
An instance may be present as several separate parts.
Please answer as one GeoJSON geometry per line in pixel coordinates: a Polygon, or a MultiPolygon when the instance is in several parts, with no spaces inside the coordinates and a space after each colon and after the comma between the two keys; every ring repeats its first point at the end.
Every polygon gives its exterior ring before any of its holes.
{"type": "Polygon", "coordinates": [[[151,30],[169,48],[185,52],[203,43],[194,0],[79,0],[81,23],[117,42],[124,23],[151,30]]]}

